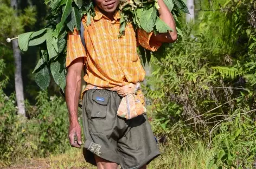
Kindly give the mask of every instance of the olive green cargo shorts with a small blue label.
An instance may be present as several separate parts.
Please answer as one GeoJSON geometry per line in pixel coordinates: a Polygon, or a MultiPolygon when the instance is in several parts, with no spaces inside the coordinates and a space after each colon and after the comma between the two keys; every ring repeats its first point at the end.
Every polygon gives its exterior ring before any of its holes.
{"type": "Polygon", "coordinates": [[[94,154],[122,168],[140,168],[160,152],[146,115],[131,120],[117,116],[121,97],[109,90],[88,90],[83,98],[84,157],[96,165],[94,154]]]}

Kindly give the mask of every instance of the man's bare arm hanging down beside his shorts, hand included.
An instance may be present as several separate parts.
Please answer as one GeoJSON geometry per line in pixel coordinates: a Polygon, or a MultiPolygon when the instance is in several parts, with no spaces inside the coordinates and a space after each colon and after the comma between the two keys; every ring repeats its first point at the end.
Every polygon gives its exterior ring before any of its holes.
{"type": "Polygon", "coordinates": [[[78,102],[81,92],[81,72],[83,67],[83,58],[74,60],[68,67],[66,77],[66,103],[69,112],[69,142],[73,147],[80,147],[81,127],[78,122],[78,102]],[[77,141],[75,140],[77,137],[77,141]]]}

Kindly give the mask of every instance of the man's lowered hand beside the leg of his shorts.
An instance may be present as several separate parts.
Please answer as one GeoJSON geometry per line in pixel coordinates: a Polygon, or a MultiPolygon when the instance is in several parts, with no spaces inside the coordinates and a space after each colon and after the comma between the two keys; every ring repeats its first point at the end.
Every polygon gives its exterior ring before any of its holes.
{"type": "Polygon", "coordinates": [[[69,126],[69,142],[72,147],[80,148],[82,145],[81,127],[78,122],[71,122],[69,126]]]}

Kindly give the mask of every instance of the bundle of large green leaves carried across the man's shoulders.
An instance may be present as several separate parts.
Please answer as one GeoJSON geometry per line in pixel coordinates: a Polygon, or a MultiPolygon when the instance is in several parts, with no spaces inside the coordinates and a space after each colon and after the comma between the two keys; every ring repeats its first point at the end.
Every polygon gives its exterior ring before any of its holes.
{"type": "MultiPolygon", "coordinates": [[[[182,0],[164,0],[164,2],[174,15],[178,34],[181,35],[177,17],[182,12],[188,13],[187,6],[182,0]]],[[[40,31],[19,35],[18,44],[23,51],[27,51],[31,46],[40,47],[40,60],[33,72],[37,85],[46,89],[52,74],[54,81],[63,90],[66,86],[67,32],[73,31],[74,28],[80,30],[83,15],[87,15],[87,25],[91,24],[91,19],[95,15],[94,5],[91,0],[45,0],[45,3],[52,11],[47,17],[48,25],[40,31]]],[[[120,38],[125,33],[127,22],[147,32],[171,31],[171,28],[159,18],[158,8],[157,0],[121,0],[118,9],[121,14],[120,38]]],[[[140,48],[140,53],[144,63],[146,60],[150,61],[149,51],[140,48]]]]}

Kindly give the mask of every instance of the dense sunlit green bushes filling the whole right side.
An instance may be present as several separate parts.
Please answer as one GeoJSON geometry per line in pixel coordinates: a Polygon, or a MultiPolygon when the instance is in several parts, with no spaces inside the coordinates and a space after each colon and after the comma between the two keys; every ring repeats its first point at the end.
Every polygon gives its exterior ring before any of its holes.
{"type": "Polygon", "coordinates": [[[182,150],[205,142],[213,151],[208,168],[254,168],[256,7],[224,3],[217,4],[223,10],[200,12],[199,24],[184,27],[167,56],[152,60],[149,109],[161,140],[182,150]]]}

